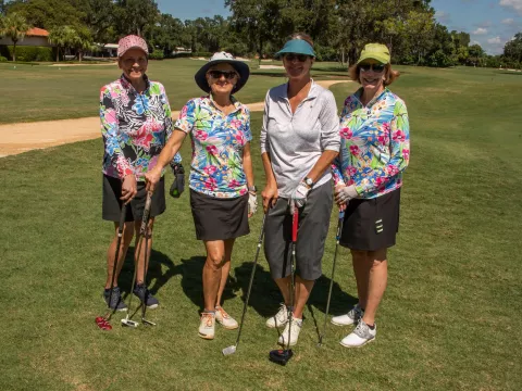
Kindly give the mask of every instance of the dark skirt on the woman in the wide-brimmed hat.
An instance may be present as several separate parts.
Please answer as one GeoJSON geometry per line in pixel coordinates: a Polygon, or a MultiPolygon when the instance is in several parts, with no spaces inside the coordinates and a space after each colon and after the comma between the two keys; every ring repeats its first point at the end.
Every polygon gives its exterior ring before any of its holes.
{"type": "Polygon", "coordinates": [[[250,234],[248,193],[219,199],[190,189],[190,207],[198,240],[226,240],[250,234]]]}

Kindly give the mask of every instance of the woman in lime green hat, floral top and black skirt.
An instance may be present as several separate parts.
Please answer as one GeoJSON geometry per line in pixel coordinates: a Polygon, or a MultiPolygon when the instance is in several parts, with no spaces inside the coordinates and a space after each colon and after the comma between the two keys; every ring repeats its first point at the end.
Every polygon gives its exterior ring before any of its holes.
{"type": "Polygon", "coordinates": [[[340,115],[340,152],[334,164],[335,200],[345,210],[339,243],[351,251],[359,302],[334,316],[337,326],[356,325],[340,342],[359,348],[375,340],[375,313],[386,289],[387,249],[399,228],[402,172],[410,159],[405,102],[388,86],[399,76],[388,48],[368,43],[349,74],[361,85],[340,115]]]}

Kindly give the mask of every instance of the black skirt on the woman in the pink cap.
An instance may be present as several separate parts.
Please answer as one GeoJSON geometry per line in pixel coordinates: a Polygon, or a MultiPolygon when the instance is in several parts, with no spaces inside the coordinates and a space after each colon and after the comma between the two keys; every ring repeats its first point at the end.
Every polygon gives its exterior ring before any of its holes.
{"type": "MultiPolygon", "coordinates": [[[[138,192],[134,199],[127,204],[125,222],[141,222],[145,210],[145,201],[147,200],[147,190],[145,181],[137,182],[138,192]]],[[[102,218],[109,222],[120,220],[120,211],[122,207],[122,180],[103,175],[103,201],[102,201],[102,218]]],[[[150,217],[156,217],[165,212],[165,181],[160,179],[152,194],[150,204],[150,217]]]]}

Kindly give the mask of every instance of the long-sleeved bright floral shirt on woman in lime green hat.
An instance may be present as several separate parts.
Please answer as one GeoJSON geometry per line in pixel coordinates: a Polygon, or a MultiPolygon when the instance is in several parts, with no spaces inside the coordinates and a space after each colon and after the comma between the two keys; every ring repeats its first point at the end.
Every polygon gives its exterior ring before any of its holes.
{"type": "Polygon", "coordinates": [[[385,90],[366,106],[362,88],[348,97],[340,115],[340,152],[333,165],[335,185],[356,185],[363,199],[402,186],[410,160],[410,126],[405,102],[385,90]]]}

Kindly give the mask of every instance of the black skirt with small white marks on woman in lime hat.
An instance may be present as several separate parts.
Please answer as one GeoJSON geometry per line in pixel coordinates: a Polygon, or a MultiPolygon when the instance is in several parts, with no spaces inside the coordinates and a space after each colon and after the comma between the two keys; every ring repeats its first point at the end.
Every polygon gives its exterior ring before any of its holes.
{"type": "Polygon", "coordinates": [[[400,188],[374,199],[355,199],[345,211],[339,244],[377,251],[395,245],[399,231],[400,188]]]}

